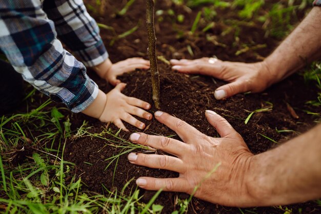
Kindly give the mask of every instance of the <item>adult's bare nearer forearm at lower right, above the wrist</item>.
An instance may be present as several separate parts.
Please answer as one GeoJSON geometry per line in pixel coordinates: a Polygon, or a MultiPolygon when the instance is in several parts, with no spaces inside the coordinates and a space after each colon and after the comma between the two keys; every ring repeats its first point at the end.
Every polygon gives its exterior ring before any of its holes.
{"type": "Polygon", "coordinates": [[[271,151],[253,156],[252,205],[284,205],[321,197],[321,125],[271,151]]]}

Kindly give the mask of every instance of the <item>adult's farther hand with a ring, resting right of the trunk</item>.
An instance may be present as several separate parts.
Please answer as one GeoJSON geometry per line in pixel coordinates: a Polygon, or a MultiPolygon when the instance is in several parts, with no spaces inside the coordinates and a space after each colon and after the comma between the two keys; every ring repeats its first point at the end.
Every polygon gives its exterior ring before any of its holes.
{"type": "Polygon", "coordinates": [[[257,63],[229,62],[209,58],[195,60],[172,59],[172,69],[181,73],[204,74],[230,82],[216,89],[216,99],[224,99],[242,92],[262,92],[275,80],[265,61],[257,63]]]}

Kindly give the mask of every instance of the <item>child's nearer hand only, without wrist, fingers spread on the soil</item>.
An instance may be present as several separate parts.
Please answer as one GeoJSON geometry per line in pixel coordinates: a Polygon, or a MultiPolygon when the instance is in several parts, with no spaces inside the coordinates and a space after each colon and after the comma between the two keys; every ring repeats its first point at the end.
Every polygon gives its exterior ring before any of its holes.
{"type": "Polygon", "coordinates": [[[140,99],[127,97],[126,95],[122,94],[121,91],[125,89],[125,87],[125,83],[120,83],[108,94],[106,94],[107,102],[101,117],[99,117],[99,120],[102,122],[113,122],[117,127],[125,131],[128,130],[126,129],[122,120],[137,127],[138,129],[144,129],[145,124],[134,118],[132,115],[151,120],[153,116],[143,110],[148,110],[151,106],[149,103],[140,99]]]}

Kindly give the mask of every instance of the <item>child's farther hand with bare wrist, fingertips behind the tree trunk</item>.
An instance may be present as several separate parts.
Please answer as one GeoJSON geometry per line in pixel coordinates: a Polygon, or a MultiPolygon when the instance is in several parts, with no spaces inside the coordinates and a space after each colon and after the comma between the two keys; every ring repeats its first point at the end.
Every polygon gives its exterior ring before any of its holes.
{"type": "Polygon", "coordinates": [[[117,76],[127,72],[134,71],[135,69],[149,69],[150,62],[143,58],[129,58],[117,63],[112,63],[109,59],[106,59],[100,65],[94,67],[96,73],[112,85],[121,83],[117,79],[117,76]]]}

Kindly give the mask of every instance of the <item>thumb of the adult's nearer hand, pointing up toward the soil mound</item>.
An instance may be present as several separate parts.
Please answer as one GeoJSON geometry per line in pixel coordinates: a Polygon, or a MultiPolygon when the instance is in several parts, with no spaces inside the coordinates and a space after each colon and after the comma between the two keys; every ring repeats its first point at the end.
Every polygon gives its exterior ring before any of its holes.
{"type": "Polygon", "coordinates": [[[220,137],[234,138],[235,136],[238,136],[232,125],[225,118],[210,110],[206,110],[205,116],[207,121],[216,129],[220,137]]]}

